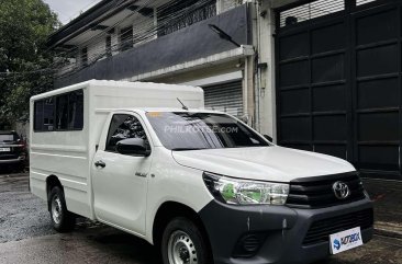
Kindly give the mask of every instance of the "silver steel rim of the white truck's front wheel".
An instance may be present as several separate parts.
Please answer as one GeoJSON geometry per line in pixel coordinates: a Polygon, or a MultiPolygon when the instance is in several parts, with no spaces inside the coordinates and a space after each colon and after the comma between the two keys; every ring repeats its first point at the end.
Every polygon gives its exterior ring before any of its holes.
{"type": "Polygon", "coordinates": [[[168,243],[168,257],[170,264],[197,264],[197,250],[190,237],[183,231],[170,234],[168,243]]]}

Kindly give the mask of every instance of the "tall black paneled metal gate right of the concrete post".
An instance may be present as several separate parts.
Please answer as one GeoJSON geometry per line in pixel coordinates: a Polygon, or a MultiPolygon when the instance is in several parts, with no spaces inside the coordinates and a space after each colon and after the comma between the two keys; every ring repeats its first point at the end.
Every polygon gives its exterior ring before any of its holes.
{"type": "Polygon", "coordinates": [[[279,145],[401,176],[402,1],[319,0],[277,10],[279,145]]]}

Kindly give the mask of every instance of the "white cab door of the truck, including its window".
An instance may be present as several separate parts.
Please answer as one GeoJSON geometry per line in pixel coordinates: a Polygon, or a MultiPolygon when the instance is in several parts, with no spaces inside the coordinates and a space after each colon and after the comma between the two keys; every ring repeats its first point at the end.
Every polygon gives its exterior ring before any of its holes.
{"type": "MultiPolygon", "coordinates": [[[[153,153],[134,157],[118,153],[115,146],[127,138],[143,138],[150,148],[139,116],[114,114],[105,142],[93,159],[93,206],[99,220],[145,234],[148,172],[153,153]]],[[[104,138],[104,137],[103,137],[104,138]]]]}

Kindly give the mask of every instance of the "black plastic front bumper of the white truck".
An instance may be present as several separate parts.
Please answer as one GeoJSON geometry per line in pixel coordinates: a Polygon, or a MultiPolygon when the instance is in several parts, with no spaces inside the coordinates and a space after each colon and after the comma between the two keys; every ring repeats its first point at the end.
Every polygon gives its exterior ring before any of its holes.
{"type": "MultiPolygon", "coordinates": [[[[311,263],[330,255],[328,242],[303,245],[310,226],[365,209],[369,198],[321,209],[294,209],[287,206],[228,206],[212,200],[200,211],[215,264],[311,263]],[[259,249],[252,256],[238,256],[236,249],[245,234],[260,234],[259,249]]],[[[364,243],[372,238],[372,227],[361,230],[364,243]]]]}

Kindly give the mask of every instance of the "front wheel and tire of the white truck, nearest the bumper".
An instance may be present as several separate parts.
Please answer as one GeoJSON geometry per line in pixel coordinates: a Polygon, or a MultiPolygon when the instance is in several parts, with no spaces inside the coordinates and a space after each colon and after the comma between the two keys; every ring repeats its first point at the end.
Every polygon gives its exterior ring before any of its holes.
{"type": "Polygon", "coordinates": [[[174,218],[165,228],[161,239],[164,264],[212,264],[205,238],[194,222],[174,218]]]}

